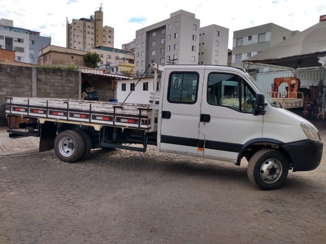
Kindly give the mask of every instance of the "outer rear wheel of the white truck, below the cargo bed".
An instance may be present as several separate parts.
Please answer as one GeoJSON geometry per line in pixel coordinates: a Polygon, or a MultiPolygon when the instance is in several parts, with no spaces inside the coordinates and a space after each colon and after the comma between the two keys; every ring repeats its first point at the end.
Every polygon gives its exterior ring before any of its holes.
{"type": "Polygon", "coordinates": [[[64,162],[73,163],[84,155],[85,142],[77,131],[60,132],[55,139],[55,152],[64,162]]]}

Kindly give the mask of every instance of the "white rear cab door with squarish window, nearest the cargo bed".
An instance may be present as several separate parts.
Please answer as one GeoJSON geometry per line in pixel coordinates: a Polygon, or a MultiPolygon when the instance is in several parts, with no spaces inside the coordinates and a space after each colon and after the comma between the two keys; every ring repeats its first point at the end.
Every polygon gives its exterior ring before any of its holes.
{"type": "Polygon", "coordinates": [[[197,156],[204,67],[173,66],[163,75],[158,150],[197,156]]]}

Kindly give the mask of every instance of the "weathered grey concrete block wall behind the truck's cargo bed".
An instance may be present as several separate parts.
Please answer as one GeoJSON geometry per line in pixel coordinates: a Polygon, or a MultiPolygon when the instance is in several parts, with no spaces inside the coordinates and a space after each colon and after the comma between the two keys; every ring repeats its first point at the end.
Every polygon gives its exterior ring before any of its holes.
{"type": "Polygon", "coordinates": [[[6,124],[5,97],[79,98],[80,73],[0,64],[0,124],[6,124]]]}

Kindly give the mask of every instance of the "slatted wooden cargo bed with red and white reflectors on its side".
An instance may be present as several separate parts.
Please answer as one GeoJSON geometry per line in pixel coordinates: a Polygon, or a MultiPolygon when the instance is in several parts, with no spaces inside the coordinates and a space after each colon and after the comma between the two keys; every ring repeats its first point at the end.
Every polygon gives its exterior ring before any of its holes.
{"type": "Polygon", "coordinates": [[[6,115],[80,124],[157,130],[158,105],[50,98],[6,98],[6,115]],[[154,113],[154,114],[153,114],[154,113]],[[154,120],[154,123],[153,123],[154,120]]]}

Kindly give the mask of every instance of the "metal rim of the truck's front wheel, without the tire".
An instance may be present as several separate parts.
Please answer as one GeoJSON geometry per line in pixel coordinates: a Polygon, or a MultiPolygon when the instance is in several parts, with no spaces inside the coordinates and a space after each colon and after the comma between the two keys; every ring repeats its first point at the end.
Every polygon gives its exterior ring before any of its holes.
{"type": "Polygon", "coordinates": [[[268,159],[260,168],[260,177],[265,183],[271,184],[279,180],[282,172],[283,167],[278,159],[268,159]]]}

